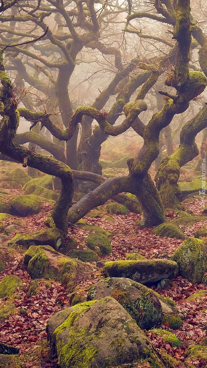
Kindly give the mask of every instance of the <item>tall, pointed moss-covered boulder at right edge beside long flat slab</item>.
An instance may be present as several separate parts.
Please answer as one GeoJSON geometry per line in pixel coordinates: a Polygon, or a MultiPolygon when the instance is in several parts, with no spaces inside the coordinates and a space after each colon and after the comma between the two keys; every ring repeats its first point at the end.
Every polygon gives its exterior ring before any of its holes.
{"type": "Polygon", "coordinates": [[[192,282],[201,282],[207,268],[207,248],[203,240],[188,237],[171,256],[179,274],[192,282]]]}

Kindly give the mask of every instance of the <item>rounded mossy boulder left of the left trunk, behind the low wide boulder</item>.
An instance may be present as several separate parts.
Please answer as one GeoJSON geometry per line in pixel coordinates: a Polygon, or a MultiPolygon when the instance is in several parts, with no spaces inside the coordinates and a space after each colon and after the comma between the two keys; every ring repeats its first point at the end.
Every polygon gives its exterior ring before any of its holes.
{"type": "Polygon", "coordinates": [[[17,195],[11,201],[11,214],[18,216],[29,216],[39,213],[42,209],[42,203],[46,199],[38,197],[35,194],[17,195]]]}

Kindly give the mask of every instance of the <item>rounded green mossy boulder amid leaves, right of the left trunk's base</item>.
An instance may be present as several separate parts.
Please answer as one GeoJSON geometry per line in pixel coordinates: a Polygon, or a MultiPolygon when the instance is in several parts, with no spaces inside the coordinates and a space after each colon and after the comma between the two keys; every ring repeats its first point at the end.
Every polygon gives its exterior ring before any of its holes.
{"type": "Polygon", "coordinates": [[[85,241],[87,247],[97,254],[109,255],[112,252],[111,241],[105,234],[90,234],[85,241]]]}

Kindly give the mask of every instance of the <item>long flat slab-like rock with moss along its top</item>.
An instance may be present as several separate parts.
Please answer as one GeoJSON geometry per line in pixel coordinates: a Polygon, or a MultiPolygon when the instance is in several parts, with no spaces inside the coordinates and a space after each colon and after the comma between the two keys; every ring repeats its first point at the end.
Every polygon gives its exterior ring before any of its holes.
{"type": "Polygon", "coordinates": [[[141,284],[156,282],[178,273],[176,262],[165,259],[143,259],[141,261],[111,261],[105,263],[106,277],[128,277],[141,284]]]}

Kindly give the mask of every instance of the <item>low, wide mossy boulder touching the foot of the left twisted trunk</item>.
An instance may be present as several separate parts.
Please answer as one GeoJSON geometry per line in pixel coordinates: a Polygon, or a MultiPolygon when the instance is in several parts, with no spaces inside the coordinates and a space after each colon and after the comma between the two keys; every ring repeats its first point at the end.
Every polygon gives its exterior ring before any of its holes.
{"type": "Polygon", "coordinates": [[[58,249],[62,242],[63,233],[61,230],[46,228],[39,231],[31,231],[31,233],[17,234],[8,245],[24,245],[26,248],[29,248],[31,245],[50,245],[54,249],[58,249]]]}

